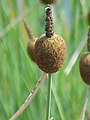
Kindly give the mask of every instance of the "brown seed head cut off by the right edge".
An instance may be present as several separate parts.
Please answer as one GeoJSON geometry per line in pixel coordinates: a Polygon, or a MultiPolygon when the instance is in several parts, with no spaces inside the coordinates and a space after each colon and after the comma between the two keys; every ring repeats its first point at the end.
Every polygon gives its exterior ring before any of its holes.
{"type": "Polygon", "coordinates": [[[86,53],[82,56],[79,69],[83,81],[90,85],[90,53],[86,53]]]}

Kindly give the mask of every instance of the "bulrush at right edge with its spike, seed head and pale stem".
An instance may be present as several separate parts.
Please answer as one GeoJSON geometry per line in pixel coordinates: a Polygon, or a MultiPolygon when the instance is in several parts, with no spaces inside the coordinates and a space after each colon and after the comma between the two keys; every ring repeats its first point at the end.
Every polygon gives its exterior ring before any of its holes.
{"type": "Polygon", "coordinates": [[[81,57],[80,63],[79,63],[79,70],[80,70],[81,78],[87,85],[89,85],[89,88],[87,90],[87,94],[85,97],[84,106],[82,109],[80,120],[84,120],[86,106],[87,106],[87,102],[88,102],[88,96],[90,93],[90,28],[89,28],[89,32],[88,32],[87,49],[88,49],[88,52],[85,53],[81,57]]]}

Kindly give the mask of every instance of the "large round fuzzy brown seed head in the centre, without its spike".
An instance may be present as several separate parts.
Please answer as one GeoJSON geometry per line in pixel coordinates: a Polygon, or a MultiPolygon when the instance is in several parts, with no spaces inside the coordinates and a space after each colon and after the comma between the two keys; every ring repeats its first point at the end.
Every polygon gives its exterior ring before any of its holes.
{"type": "Polygon", "coordinates": [[[46,73],[57,72],[64,63],[66,45],[62,37],[54,34],[51,38],[42,35],[35,44],[35,60],[46,73]]]}

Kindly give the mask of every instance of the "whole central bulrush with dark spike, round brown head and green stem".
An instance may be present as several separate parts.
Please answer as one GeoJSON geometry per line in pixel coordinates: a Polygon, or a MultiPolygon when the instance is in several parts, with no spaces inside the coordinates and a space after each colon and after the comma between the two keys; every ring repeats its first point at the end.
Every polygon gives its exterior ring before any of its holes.
{"type": "Polygon", "coordinates": [[[66,57],[66,45],[64,39],[53,31],[53,18],[50,5],[46,8],[46,33],[41,35],[35,43],[35,61],[39,68],[49,74],[48,100],[46,120],[50,119],[51,107],[51,73],[57,72],[64,63],[66,57]]]}

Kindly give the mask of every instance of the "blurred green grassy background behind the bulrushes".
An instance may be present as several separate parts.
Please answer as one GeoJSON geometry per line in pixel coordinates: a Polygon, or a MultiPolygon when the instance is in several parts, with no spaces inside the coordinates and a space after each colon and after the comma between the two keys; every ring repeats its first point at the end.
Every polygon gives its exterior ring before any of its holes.
{"type": "MultiPolygon", "coordinates": [[[[90,0],[60,0],[52,9],[54,31],[66,41],[67,57],[63,68],[52,75],[51,113],[54,120],[79,120],[87,91],[79,60],[87,51],[90,0]]],[[[45,5],[39,0],[0,0],[0,120],[8,120],[17,111],[42,75],[27,55],[29,37],[22,18],[35,37],[44,33],[45,5]]],[[[47,84],[46,79],[18,120],[45,120],[47,84]]],[[[90,97],[87,112],[89,108],[90,97]]]]}

